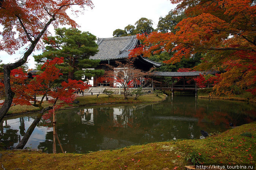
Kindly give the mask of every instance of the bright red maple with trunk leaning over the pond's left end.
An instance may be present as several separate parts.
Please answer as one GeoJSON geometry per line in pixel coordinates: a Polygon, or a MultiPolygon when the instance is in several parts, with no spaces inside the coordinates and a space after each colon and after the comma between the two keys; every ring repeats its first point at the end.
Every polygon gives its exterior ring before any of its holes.
{"type": "MultiPolygon", "coordinates": [[[[11,90],[15,93],[12,105],[33,105],[40,110],[37,118],[27,129],[26,134],[16,148],[23,148],[25,146],[35,126],[42,119],[42,116],[45,119],[49,119],[53,111],[57,111],[57,109],[65,104],[72,104],[76,97],[74,94],[75,90],[83,90],[89,87],[83,81],[70,79],[61,82],[61,84],[56,83],[62,75],[56,65],[60,65],[61,63],[63,63],[63,58],[54,58],[52,61],[46,61],[42,66],[45,69],[44,72],[39,73],[33,79],[29,79],[26,73],[23,73],[22,69],[11,71],[11,90]],[[39,95],[42,97],[37,98],[39,95]],[[49,100],[48,107],[44,107],[43,105],[46,96],[52,98],[49,100]],[[57,101],[59,102],[57,103],[57,101]],[[49,112],[45,113],[46,111],[49,112]]],[[[0,74],[0,78],[2,77],[3,74],[0,74]]],[[[4,90],[4,88],[4,84],[0,83],[0,89],[4,90]]]]}

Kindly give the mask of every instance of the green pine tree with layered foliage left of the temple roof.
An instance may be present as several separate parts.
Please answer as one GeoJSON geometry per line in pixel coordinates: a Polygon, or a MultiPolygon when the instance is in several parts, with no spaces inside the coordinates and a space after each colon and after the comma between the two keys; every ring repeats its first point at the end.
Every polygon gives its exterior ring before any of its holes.
{"type": "Polygon", "coordinates": [[[100,62],[89,59],[98,52],[96,36],[76,28],[57,28],[55,33],[56,36],[44,39],[47,46],[42,54],[34,56],[36,62],[44,63],[47,59],[64,57],[64,63],[60,67],[66,80],[80,80],[84,75],[92,77],[103,74],[103,70],[86,70],[96,67],[100,62]]]}

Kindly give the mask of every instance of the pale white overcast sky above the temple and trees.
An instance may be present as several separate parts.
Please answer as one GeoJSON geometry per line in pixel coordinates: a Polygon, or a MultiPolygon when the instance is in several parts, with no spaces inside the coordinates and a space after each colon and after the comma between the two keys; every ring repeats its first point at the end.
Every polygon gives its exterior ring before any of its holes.
{"type": "MultiPolygon", "coordinates": [[[[170,0],[92,0],[93,9],[87,9],[83,15],[73,16],[81,31],[89,31],[97,38],[113,37],[113,31],[124,29],[128,24],[134,25],[136,21],[144,17],[153,20],[153,27],[156,28],[159,17],[176,7],[170,0]]],[[[50,28],[51,32],[54,32],[50,28]]],[[[8,55],[0,51],[2,63],[17,61],[22,57],[23,50],[17,51],[14,55],[8,55]]],[[[40,54],[41,51],[34,51],[33,54],[40,54]]],[[[33,55],[28,59],[29,68],[35,67],[33,55]]]]}

